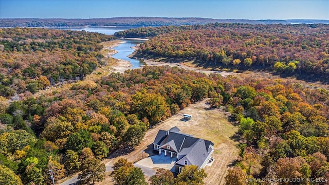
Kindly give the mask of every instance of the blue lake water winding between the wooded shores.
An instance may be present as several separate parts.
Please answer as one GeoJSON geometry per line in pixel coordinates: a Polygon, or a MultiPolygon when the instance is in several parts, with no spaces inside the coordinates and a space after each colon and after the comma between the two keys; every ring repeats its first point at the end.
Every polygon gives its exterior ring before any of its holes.
{"type": "MultiPolygon", "coordinates": [[[[98,32],[98,33],[104,33],[108,35],[112,35],[117,31],[124,31],[127,29],[133,29],[137,27],[56,27],[53,29],[62,29],[62,30],[77,30],[77,31],[88,31],[88,32],[98,32]]],[[[121,39],[121,41],[124,41],[125,43],[120,44],[119,46],[114,47],[116,51],[118,51],[116,54],[113,54],[112,57],[116,59],[122,59],[125,61],[129,61],[133,66],[132,69],[139,68],[142,65],[145,65],[143,60],[137,60],[137,59],[130,59],[127,56],[133,53],[134,49],[132,49],[133,46],[136,46],[137,44],[145,42],[144,40],[130,40],[130,39],[121,39]]]]}

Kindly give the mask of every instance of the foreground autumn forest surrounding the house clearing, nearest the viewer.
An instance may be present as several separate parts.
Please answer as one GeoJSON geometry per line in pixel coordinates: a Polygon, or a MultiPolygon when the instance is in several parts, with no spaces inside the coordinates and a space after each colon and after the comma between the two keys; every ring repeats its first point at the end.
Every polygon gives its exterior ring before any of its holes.
{"type": "Polygon", "coordinates": [[[213,108],[224,106],[239,125],[240,159],[227,182],[236,173],[241,178],[329,176],[328,91],[168,66],[145,66],[39,98],[2,101],[0,166],[23,183],[38,184],[46,183],[50,167],[56,179],[87,171],[91,161],[102,171],[96,164],[109,152],[136,146],[149,125],[204,98],[213,108]]]}

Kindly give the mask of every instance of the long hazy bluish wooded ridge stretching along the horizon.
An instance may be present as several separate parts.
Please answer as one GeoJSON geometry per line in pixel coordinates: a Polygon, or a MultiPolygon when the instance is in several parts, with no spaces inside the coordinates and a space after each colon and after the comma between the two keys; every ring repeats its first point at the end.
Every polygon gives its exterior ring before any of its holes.
{"type": "Polygon", "coordinates": [[[173,17],[112,17],[112,18],[2,18],[0,27],[78,27],[78,26],[180,26],[208,23],[244,24],[329,24],[329,20],[236,20],[173,17]]]}

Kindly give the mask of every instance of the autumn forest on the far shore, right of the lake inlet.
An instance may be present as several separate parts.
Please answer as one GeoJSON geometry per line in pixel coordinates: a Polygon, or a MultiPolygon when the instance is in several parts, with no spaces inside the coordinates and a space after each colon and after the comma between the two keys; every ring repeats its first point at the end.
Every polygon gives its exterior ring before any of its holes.
{"type": "Polygon", "coordinates": [[[116,36],[150,38],[137,57],[195,60],[199,65],[266,69],[286,76],[329,78],[328,25],[207,24],[147,27],[116,36]]]}

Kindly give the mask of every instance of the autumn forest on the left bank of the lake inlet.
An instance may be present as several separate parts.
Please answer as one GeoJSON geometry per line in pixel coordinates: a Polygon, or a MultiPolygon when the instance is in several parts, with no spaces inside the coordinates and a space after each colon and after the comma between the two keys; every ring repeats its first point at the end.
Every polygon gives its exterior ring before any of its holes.
{"type": "Polygon", "coordinates": [[[0,29],[0,96],[35,93],[83,78],[102,65],[103,41],[114,36],[42,28],[0,29]]]}

